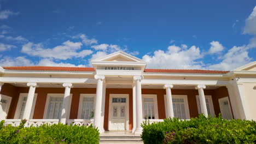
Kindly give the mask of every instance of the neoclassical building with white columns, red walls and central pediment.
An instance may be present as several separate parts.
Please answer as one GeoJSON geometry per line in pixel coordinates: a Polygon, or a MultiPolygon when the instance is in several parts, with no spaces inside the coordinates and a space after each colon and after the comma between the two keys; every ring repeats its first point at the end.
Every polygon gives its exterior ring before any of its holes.
{"type": "Polygon", "coordinates": [[[256,120],[256,62],[231,71],[146,69],[125,52],[91,62],[93,68],[0,68],[0,119],[5,124],[93,124],[102,133],[139,134],[141,123],[200,113],[256,120]]]}

